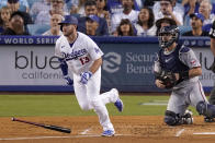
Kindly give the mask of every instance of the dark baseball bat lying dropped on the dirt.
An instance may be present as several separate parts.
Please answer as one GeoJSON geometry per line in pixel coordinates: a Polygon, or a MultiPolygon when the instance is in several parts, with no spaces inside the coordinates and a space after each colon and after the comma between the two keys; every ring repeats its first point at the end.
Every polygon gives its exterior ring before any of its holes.
{"type": "Polygon", "coordinates": [[[55,131],[59,131],[59,132],[64,132],[64,133],[70,133],[71,132],[70,129],[64,128],[64,127],[36,123],[36,122],[32,122],[32,121],[25,121],[25,120],[16,119],[14,117],[11,120],[12,121],[18,121],[18,122],[24,122],[24,123],[29,123],[29,124],[33,124],[33,126],[36,126],[36,127],[42,127],[42,128],[45,128],[45,129],[55,130],[55,131]]]}

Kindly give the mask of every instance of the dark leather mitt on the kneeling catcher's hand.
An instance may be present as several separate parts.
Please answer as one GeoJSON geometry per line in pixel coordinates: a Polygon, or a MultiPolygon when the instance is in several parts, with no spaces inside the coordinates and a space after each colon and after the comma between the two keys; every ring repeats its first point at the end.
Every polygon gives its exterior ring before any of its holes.
{"type": "Polygon", "coordinates": [[[158,79],[162,82],[166,88],[171,88],[177,84],[177,78],[172,72],[162,71],[158,79]]]}

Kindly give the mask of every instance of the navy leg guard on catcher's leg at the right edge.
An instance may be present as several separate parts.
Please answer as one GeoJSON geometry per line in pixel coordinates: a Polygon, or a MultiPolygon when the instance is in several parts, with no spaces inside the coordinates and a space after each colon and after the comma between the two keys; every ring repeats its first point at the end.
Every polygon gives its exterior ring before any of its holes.
{"type": "Polygon", "coordinates": [[[215,106],[214,105],[210,105],[205,102],[200,102],[196,105],[196,110],[200,115],[215,118],[215,106]]]}

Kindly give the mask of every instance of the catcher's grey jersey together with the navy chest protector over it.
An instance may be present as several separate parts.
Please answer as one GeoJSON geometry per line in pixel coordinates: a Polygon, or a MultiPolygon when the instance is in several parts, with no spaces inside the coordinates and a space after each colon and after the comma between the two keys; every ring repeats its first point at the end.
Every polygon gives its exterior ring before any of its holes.
{"type": "MultiPolygon", "coordinates": [[[[178,45],[171,51],[166,49],[159,50],[157,60],[155,61],[154,70],[156,73],[160,73],[163,70],[179,73],[196,67],[201,67],[201,64],[193,50],[183,45],[178,45]]],[[[199,76],[194,76],[189,80],[179,81],[179,84],[177,84],[174,87],[186,86],[193,82],[196,82],[199,76]]]]}

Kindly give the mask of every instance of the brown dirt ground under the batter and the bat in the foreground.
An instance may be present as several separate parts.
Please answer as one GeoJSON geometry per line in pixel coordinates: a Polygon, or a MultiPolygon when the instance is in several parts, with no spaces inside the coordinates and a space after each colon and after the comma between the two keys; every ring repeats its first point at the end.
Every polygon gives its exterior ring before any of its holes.
{"type": "Polygon", "coordinates": [[[168,127],[161,116],[111,117],[116,135],[100,136],[102,128],[95,116],[91,117],[22,117],[20,119],[55,124],[71,129],[60,133],[0,118],[0,143],[214,143],[215,122],[205,123],[194,117],[194,124],[168,127]]]}

